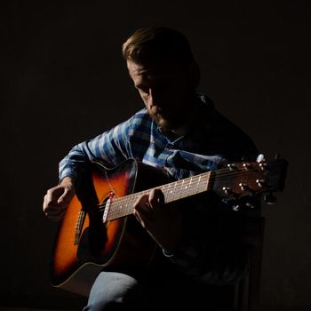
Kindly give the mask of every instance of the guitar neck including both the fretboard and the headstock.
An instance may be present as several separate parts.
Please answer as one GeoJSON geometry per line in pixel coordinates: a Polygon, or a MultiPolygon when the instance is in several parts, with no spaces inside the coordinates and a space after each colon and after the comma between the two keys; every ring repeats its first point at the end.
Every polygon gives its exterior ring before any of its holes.
{"type": "Polygon", "coordinates": [[[251,197],[265,192],[271,194],[272,191],[282,191],[287,165],[287,161],[283,159],[276,159],[270,163],[265,161],[229,163],[227,168],[218,171],[206,171],[187,179],[180,179],[132,195],[113,197],[100,206],[104,208],[103,221],[132,214],[134,204],[140,196],[148,195],[152,189],[156,188],[162,190],[165,203],[178,201],[205,191],[213,191],[219,198],[227,202],[231,200],[232,203],[243,196],[251,197]]]}

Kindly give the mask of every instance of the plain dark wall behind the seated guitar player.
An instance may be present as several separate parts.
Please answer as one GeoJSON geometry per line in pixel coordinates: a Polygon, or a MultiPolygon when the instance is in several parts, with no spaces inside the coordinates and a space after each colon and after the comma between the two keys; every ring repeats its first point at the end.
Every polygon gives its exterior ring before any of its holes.
{"type": "Polygon", "coordinates": [[[309,1],[2,1],[1,287],[3,304],[61,305],[48,268],[57,224],[43,196],[76,143],[142,107],[121,56],[136,28],[177,28],[202,68],[199,91],[289,163],[265,206],[260,302],[311,307],[309,1]],[[24,301],[24,302],[23,302],[24,301]]]}

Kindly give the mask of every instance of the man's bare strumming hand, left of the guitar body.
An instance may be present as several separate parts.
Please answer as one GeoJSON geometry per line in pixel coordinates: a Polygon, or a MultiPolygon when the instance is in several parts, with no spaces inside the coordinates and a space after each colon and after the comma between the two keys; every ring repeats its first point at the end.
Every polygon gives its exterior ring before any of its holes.
{"type": "Polygon", "coordinates": [[[48,189],[44,195],[43,210],[46,217],[59,221],[68,208],[68,204],[75,195],[75,186],[70,177],[61,180],[60,185],[48,189]]]}

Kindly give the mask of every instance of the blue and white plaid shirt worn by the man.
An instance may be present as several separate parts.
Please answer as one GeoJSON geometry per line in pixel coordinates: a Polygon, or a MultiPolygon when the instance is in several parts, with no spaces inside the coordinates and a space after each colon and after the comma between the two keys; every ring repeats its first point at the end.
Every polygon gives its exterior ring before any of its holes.
{"type": "MultiPolygon", "coordinates": [[[[186,135],[179,138],[172,134],[165,136],[147,109],[141,109],[124,123],[72,148],[60,162],[60,179],[70,176],[79,182],[86,163],[96,159],[116,166],[125,159],[135,158],[165,168],[175,179],[183,179],[217,170],[227,161],[256,158],[257,148],[241,129],[221,116],[205,95],[198,94],[197,100],[200,111],[186,135]]],[[[163,253],[187,275],[204,283],[233,283],[245,269],[245,257],[240,244],[233,249],[232,245],[236,243],[229,236],[220,245],[215,243],[229,228],[224,230],[221,221],[217,221],[215,227],[215,217],[221,219],[223,215],[206,209],[208,200],[208,197],[207,201],[201,196],[200,200],[194,198],[191,202],[194,221],[188,221],[189,216],[185,216],[189,234],[185,235],[184,243],[173,253],[163,253]],[[200,227],[195,219],[207,221],[200,227]]]]}

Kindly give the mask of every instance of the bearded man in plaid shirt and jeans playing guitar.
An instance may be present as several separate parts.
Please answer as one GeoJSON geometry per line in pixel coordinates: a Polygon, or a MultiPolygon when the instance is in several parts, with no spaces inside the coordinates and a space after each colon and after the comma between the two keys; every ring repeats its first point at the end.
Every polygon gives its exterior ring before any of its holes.
{"type": "MultiPolygon", "coordinates": [[[[44,213],[60,220],[88,163],[111,167],[134,158],[185,179],[258,150],[241,129],[196,93],[200,70],[185,36],[171,28],[140,28],[123,45],[124,60],[145,108],[123,124],[72,148],[60,162],[60,184],[44,196],[44,213]]],[[[84,310],[217,305],[215,288],[237,283],[248,267],[245,217],[212,194],[165,204],[163,192],[141,195],[133,214],[158,245],[147,271],[102,271],[84,310]],[[176,208],[178,206],[178,208],[176,208]]],[[[214,306],[213,306],[214,307],[214,306]]]]}

